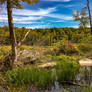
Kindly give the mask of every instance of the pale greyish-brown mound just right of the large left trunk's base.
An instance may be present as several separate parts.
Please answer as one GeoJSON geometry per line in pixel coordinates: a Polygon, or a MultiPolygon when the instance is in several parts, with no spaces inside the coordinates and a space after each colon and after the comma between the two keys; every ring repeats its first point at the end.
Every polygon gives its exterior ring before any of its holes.
{"type": "Polygon", "coordinates": [[[17,61],[23,63],[24,65],[35,64],[40,61],[39,57],[40,53],[35,50],[23,50],[18,53],[17,61]]]}

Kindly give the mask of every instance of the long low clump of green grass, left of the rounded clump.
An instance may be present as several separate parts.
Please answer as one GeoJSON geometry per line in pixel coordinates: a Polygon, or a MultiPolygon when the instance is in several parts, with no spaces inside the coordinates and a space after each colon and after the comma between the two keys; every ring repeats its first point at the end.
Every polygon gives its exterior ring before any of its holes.
{"type": "Polygon", "coordinates": [[[54,82],[52,71],[39,68],[16,68],[6,73],[7,82],[16,85],[34,84],[37,86],[47,86],[54,82]]]}

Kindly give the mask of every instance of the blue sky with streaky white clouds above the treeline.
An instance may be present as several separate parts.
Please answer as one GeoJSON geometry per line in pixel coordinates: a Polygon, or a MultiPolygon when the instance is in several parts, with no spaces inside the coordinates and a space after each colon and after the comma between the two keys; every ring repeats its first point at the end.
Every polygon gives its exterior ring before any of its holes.
{"type": "MultiPolygon", "coordinates": [[[[72,14],[80,11],[86,5],[86,0],[40,0],[39,3],[28,5],[22,3],[24,9],[13,9],[15,27],[52,28],[74,27],[79,22],[74,21],[72,14]]],[[[92,11],[92,0],[90,7],[92,11]]],[[[8,25],[6,6],[0,6],[0,26],[8,25]]]]}

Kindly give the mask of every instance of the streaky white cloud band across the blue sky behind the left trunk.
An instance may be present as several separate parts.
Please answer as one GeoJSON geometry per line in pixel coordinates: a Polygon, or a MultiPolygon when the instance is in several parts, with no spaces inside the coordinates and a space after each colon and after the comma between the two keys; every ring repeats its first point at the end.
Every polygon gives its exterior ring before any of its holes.
{"type": "MultiPolygon", "coordinates": [[[[13,20],[14,23],[36,23],[37,20],[44,19],[45,17],[55,18],[55,19],[63,19],[63,20],[72,20],[72,16],[67,16],[63,14],[54,14],[53,12],[56,11],[56,7],[48,8],[48,9],[38,9],[38,10],[27,10],[27,9],[14,9],[13,10],[13,20]]],[[[4,14],[0,15],[0,22],[5,21],[7,22],[7,13],[6,11],[4,14]]]]}

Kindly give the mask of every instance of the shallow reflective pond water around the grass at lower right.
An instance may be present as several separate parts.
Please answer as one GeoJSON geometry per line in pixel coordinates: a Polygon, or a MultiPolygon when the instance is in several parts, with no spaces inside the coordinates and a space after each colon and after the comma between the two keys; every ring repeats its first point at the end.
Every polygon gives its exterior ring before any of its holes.
{"type": "MultiPolygon", "coordinates": [[[[53,75],[55,75],[56,71],[53,71],[53,75]]],[[[74,82],[79,85],[61,85],[56,81],[53,86],[46,90],[28,90],[27,92],[86,92],[86,87],[92,87],[92,67],[82,67],[80,73],[76,76],[74,82]]]]}

